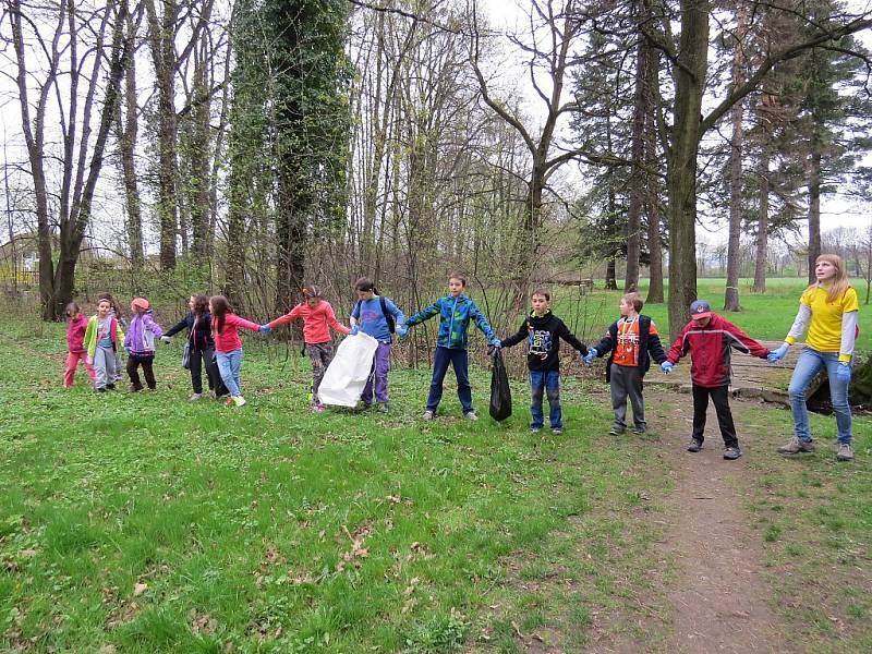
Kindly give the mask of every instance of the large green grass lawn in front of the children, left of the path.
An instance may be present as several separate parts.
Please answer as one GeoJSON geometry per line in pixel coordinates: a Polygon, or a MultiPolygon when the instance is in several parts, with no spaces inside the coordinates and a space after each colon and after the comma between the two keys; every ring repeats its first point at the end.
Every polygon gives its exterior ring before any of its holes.
{"type": "MultiPolygon", "coordinates": [[[[581,647],[654,592],[638,518],[667,464],[609,447],[581,382],[560,437],[529,433],[522,385],[506,423],[461,421],[450,385],[422,423],[427,371],[392,373],[388,417],[316,416],[304,360],[250,337],[237,410],[185,401],[175,344],[155,393],[98,396],[84,370],[64,391],[63,330],[0,330],[3,652],[516,652],[533,629],[581,647]]],[[[487,374],[473,387],[484,414],[487,374]]]]}

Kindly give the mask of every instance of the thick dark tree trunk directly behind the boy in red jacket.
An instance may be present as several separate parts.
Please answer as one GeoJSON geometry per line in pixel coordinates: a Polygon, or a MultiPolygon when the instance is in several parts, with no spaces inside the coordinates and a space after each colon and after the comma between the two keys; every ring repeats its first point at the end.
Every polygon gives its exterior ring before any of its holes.
{"type": "Polygon", "coordinates": [[[681,0],[681,39],[674,68],[675,125],[667,157],[669,225],[669,330],[690,318],[697,299],[697,153],[708,53],[707,0],[681,0]]]}

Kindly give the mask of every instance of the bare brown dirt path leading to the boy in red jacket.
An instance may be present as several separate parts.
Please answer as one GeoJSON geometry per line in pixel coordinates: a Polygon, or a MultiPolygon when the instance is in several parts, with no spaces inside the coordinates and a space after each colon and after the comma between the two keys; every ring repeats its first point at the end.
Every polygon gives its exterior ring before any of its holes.
{"type": "MultiPolygon", "coordinates": [[[[650,407],[658,404],[656,396],[646,400],[650,407]]],[[[759,535],[750,530],[734,492],[742,475],[753,474],[744,464],[747,457],[761,456],[742,428],[743,402],[731,405],[744,456],[726,461],[713,408],[703,450],[691,453],[686,451],[692,417],[689,398],[665,395],[663,400],[671,408],[658,411],[664,415],[655,419],[654,428],[662,434],[663,446],[678,459],[678,485],[670,501],[674,518],[664,541],[679,568],[677,582],[666,593],[674,616],[668,651],[787,652],[771,609],[771,592],[761,576],[759,535]]]]}

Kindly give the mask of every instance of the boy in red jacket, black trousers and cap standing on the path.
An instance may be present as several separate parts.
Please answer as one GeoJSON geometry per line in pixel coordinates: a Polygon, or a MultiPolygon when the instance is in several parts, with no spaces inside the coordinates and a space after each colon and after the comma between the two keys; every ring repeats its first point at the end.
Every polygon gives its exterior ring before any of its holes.
{"type": "Polygon", "coordinates": [[[766,359],[770,351],[729,320],[715,313],[704,300],[690,305],[691,320],[675,339],[666,361],[661,364],[664,373],[669,373],[685,354],[690,352],[690,379],[693,384],[693,434],[689,452],[702,449],[705,432],[705,412],[708,397],[715,404],[717,423],[724,437],[724,458],[735,460],[742,456],[732,412],[729,410],[729,355],[730,348],[739,352],[766,359]]]}

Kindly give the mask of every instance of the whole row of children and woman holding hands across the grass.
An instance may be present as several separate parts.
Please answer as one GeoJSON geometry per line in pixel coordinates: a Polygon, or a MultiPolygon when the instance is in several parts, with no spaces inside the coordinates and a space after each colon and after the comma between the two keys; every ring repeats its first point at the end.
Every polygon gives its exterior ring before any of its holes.
{"type": "Polygon", "coordinates": [[[742,450],[729,408],[730,351],[735,349],[770,362],[779,361],[786,355],[789,346],[808,329],[806,347],[800,353],[789,388],[795,436],[787,445],[778,448],[778,451],[794,456],[814,449],[809,428],[806,390],[818,371],[825,368],[838,426],[837,458],[846,461],[853,459],[848,384],[851,377],[853,342],[858,332],[859,304],[838,256],[819,257],[815,276],[816,282],[806,289],[800,298],[800,310],[785,343],[774,351],[712,312],[708,303],[702,300],[691,304],[691,320],[681,329],[669,350],[665,351],[654,322],[650,316],[640,313],[643,302],[637,293],[628,293],[621,298],[620,318],[608,327],[600,342],[589,348],[552,313],[550,295],[542,289],[533,291],[532,311],[518,331],[500,340],[475,302],[464,294],[467,280],[459,274],[449,277],[447,295],[409,318],[404,317],[393,302],[378,293],[372,280],[361,278],[355,284],[358,302],[351,312],[350,328],[336,318],[329,302],[314,286],[303,288],[303,301],[288,314],[265,325],[235,315],[222,295],[207,298],[195,294],[189,302],[187,315],[166,334],[154,320],[149,303],[144,298],[136,298],[131,302],[132,318],[128,325],[122,325],[112,298],[104,295],[98,301],[97,314],[89,319],[82,315],[75,303],[68,306],[69,356],[63,383],[65,387],[72,384],[78,362],[83,361],[98,392],[114,388],[120,379],[119,348],[123,347],[128,352],[126,371],[131,391],[144,388],[138,375],[140,367],[147,387],[154,390],[155,342],[170,342],[173,335],[187,329],[185,362],[191,371],[193,386],[190,399],[199,400],[203,397],[201,376],[205,368],[213,395],[222,395],[226,387],[229,395],[227,402],[241,407],[245,404],[245,399],[240,387],[242,341],[239,329],[270,332],[280,325],[302,319],[305,350],[313,368],[313,410],[324,410],[318,398],[318,386],[332,359],[332,328],[342,335],[363,332],[378,341],[373,368],[361,400],[365,407],[376,404],[379,411],[388,412],[392,332],[404,338],[411,327],[438,315],[439,329],[424,420],[433,420],[437,414],[443,382],[449,365],[455,370],[458,398],[464,417],[477,420],[472,405],[467,352],[470,324],[474,323],[495,349],[526,342],[532,432],[544,428],[543,401],[546,396],[550,429],[555,435],[564,431],[560,407],[560,340],[576,349],[585,364],[608,355],[606,380],[611,391],[615,421],[610,433],[614,435],[621,435],[628,428],[628,400],[633,411],[632,433],[645,433],[647,426],[642,382],[651,367],[651,361],[656,362],[668,374],[681,358],[690,354],[693,428],[687,449],[698,452],[703,447],[706,410],[711,399],[724,439],[724,459],[735,460],[741,457],[742,450]]]}

